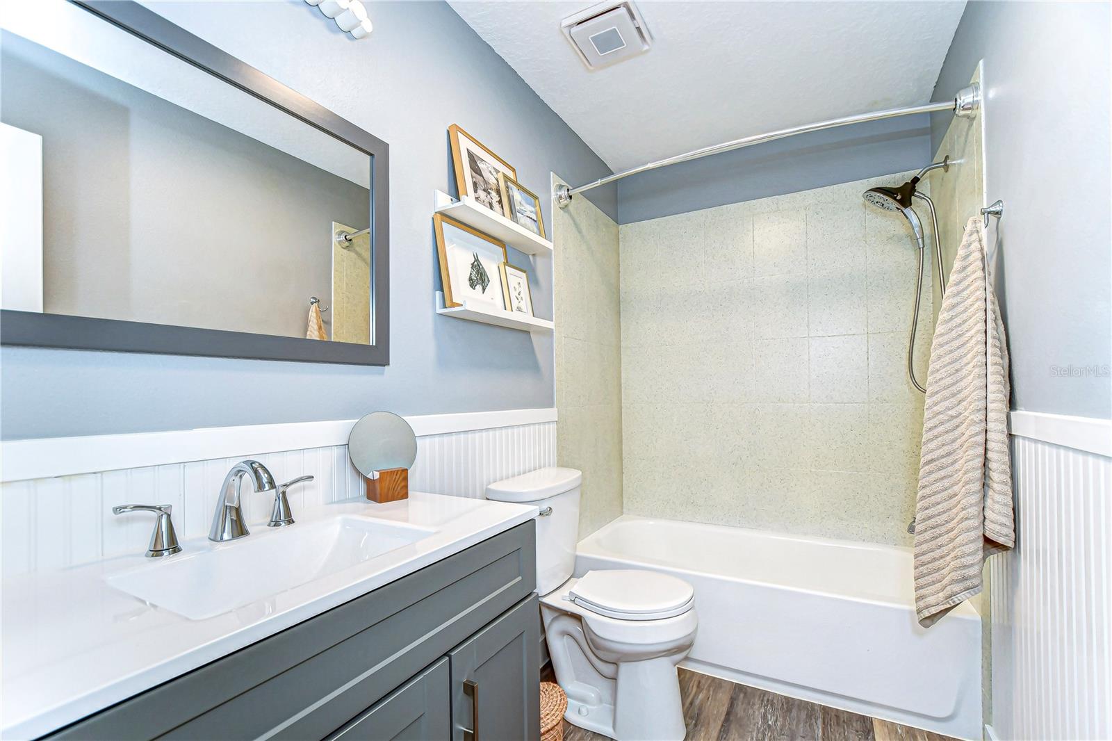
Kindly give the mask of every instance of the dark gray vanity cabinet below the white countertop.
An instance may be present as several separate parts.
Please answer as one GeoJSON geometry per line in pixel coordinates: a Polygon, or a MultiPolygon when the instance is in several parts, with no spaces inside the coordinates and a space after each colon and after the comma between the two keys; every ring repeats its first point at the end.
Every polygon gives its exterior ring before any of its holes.
{"type": "Polygon", "coordinates": [[[530,520],[188,674],[51,740],[539,735],[530,520]]]}

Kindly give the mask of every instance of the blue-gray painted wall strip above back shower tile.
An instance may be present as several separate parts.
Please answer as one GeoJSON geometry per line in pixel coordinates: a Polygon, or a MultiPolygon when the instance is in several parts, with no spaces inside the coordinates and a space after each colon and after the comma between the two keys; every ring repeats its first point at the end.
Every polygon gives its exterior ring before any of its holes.
{"type": "Polygon", "coordinates": [[[645,221],[914,170],[927,162],[932,151],[926,115],[735,149],[620,180],[618,223],[645,221]]]}

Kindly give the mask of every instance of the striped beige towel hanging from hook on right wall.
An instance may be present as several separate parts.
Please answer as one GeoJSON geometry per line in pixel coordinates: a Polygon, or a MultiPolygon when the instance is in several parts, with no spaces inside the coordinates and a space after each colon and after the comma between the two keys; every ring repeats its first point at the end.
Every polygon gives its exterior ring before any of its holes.
{"type": "Polygon", "coordinates": [[[923,626],[980,592],[984,559],[1015,542],[1009,395],[1004,325],[974,217],[931,345],[915,503],[915,613],[923,626]]]}

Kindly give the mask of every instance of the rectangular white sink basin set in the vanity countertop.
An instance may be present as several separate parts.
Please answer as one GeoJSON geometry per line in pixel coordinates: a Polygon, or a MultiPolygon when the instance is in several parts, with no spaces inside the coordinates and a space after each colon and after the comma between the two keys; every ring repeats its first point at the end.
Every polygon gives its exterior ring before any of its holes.
{"type": "Polygon", "coordinates": [[[113,587],[189,620],[206,620],[335,574],[437,531],[346,515],[294,524],[108,576],[113,587]]]}

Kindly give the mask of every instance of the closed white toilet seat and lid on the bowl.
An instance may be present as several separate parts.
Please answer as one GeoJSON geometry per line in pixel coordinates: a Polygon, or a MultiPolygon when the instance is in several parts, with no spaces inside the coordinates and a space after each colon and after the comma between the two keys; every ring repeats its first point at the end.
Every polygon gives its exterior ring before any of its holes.
{"type": "Polygon", "coordinates": [[[668,574],[638,569],[588,571],[568,591],[568,600],[615,620],[664,620],[691,610],[695,590],[668,574]]]}

